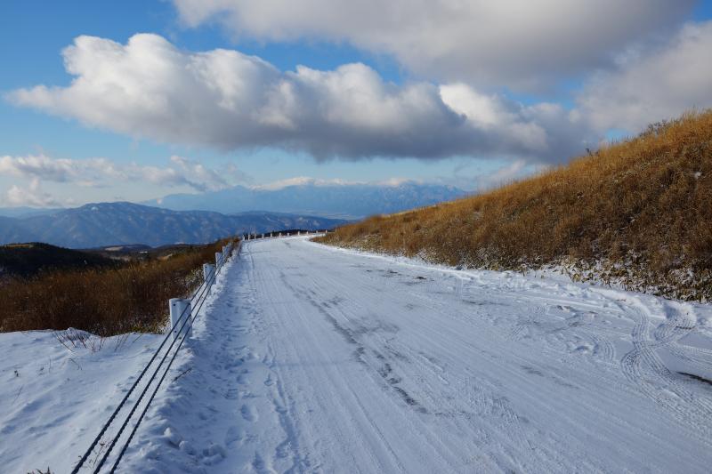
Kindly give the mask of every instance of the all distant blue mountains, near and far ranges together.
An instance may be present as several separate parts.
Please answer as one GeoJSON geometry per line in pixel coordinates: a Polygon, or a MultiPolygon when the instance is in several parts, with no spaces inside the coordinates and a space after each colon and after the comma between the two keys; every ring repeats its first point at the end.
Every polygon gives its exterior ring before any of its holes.
{"type": "Polygon", "coordinates": [[[202,194],[174,194],[143,205],[0,208],[0,244],[44,242],[69,248],[201,244],[244,232],[332,228],[346,220],[398,213],[463,196],[461,189],[437,184],[307,180],[279,189],[236,186],[202,194]]]}

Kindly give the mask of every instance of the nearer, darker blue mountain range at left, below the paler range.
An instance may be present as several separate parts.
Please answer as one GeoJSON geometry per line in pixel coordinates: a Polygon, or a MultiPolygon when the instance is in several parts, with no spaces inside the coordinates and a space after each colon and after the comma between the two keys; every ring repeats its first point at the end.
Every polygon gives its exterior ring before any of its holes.
{"type": "Polygon", "coordinates": [[[69,248],[202,244],[245,232],[326,229],[343,220],[286,213],[172,211],[132,203],[89,204],[50,213],[0,217],[0,244],[44,242],[69,248]]]}

